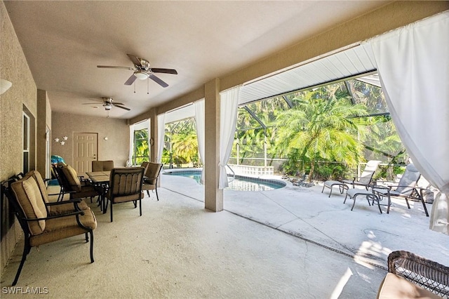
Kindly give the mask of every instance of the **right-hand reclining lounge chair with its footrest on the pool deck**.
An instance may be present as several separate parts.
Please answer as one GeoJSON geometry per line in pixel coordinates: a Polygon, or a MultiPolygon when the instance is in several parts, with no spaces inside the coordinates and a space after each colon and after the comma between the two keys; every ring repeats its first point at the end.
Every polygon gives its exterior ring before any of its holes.
{"type": "Polygon", "coordinates": [[[390,211],[391,197],[397,197],[406,199],[408,208],[410,208],[410,204],[408,203],[409,200],[421,201],[424,212],[426,213],[427,217],[429,217],[427,206],[422,195],[422,188],[416,187],[418,180],[420,180],[420,177],[421,173],[415,168],[415,166],[413,164],[408,164],[408,166],[406,167],[406,171],[403,173],[401,180],[399,180],[397,185],[374,185],[373,192],[375,192],[375,194],[377,194],[380,199],[382,199],[382,197],[388,198],[387,213],[389,213],[390,211]]]}

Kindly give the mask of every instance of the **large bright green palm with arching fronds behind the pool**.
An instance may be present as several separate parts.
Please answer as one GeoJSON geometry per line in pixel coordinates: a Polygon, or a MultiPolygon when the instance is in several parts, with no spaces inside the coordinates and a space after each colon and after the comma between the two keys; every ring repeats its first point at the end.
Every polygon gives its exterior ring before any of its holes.
{"type": "Polygon", "coordinates": [[[279,148],[286,150],[290,167],[308,172],[309,180],[320,161],[355,167],[363,157],[358,138],[365,135],[355,117],[366,115],[366,107],[352,105],[339,84],[298,93],[294,100],[295,107],[282,112],[277,123],[279,148]]]}

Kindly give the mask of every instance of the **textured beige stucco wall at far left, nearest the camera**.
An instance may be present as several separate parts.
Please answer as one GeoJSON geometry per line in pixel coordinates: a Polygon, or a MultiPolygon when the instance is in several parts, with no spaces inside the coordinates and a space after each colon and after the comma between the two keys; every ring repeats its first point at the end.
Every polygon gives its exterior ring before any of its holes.
{"type": "MultiPolygon", "coordinates": [[[[25,105],[36,119],[36,84],[3,1],[0,2],[0,40],[0,77],[13,83],[0,95],[0,180],[5,180],[22,171],[22,109],[25,105]]],[[[5,220],[4,209],[2,206],[2,221],[5,220]]],[[[20,225],[15,222],[1,240],[1,269],[21,232],[20,225]]]]}

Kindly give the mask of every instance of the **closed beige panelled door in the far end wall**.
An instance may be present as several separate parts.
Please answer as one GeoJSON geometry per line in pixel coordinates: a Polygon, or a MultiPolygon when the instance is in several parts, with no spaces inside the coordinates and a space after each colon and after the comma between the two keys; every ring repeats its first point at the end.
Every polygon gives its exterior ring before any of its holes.
{"type": "Polygon", "coordinates": [[[97,160],[97,133],[74,133],[73,164],[78,175],[92,171],[92,161],[97,160]]]}

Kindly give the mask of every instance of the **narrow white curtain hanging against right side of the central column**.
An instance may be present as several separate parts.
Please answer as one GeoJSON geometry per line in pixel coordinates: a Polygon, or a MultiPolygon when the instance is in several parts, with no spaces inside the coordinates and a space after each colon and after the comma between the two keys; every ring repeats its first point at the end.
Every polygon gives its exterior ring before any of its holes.
{"type": "Polygon", "coordinates": [[[226,164],[231,156],[236,131],[239,92],[241,86],[220,93],[220,182],[219,189],[228,187],[226,164]]]}

